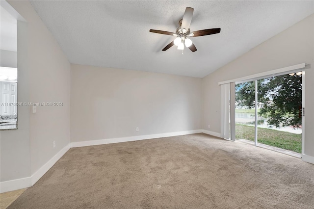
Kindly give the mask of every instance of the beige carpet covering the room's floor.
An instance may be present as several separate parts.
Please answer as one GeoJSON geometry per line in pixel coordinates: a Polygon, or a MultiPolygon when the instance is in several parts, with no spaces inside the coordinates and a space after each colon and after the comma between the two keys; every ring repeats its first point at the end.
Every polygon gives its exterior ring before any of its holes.
{"type": "Polygon", "coordinates": [[[310,209],[314,165],[206,134],[71,148],[9,209],[310,209]]]}

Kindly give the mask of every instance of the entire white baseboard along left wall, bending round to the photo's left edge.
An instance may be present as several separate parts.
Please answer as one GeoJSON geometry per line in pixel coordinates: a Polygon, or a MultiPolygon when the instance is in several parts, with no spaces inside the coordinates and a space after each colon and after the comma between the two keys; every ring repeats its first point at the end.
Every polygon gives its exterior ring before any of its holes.
{"type": "Polygon", "coordinates": [[[15,179],[6,182],[0,182],[0,193],[23,189],[34,185],[44,174],[60,159],[68,150],[70,144],[66,145],[55,156],[53,156],[45,165],[39,168],[32,176],[23,179],[15,179]]]}

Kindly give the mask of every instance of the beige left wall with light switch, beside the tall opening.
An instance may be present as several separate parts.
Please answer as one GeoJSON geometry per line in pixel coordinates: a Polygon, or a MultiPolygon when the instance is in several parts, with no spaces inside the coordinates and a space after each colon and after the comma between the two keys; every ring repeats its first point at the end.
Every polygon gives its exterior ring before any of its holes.
{"type": "Polygon", "coordinates": [[[63,106],[18,108],[18,130],[0,132],[1,183],[32,176],[70,143],[70,63],[29,1],[8,2],[26,19],[18,21],[18,102],[63,106]]]}

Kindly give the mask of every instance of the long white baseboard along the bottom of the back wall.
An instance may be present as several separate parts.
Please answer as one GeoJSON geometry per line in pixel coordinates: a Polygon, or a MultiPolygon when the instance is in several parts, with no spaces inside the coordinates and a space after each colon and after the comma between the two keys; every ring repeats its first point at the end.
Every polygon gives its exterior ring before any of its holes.
{"type": "Polygon", "coordinates": [[[108,138],[108,139],[99,139],[99,140],[91,140],[91,141],[79,141],[79,142],[71,142],[71,147],[86,147],[86,146],[101,145],[101,144],[112,144],[112,143],[120,143],[120,142],[127,142],[127,141],[138,141],[138,140],[144,140],[144,139],[180,136],[180,135],[202,133],[202,132],[203,130],[192,130],[192,131],[179,131],[179,132],[169,132],[169,133],[157,133],[157,134],[150,134],[150,135],[129,136],[129,137],[121,137],[121,138],[108,138]]]}

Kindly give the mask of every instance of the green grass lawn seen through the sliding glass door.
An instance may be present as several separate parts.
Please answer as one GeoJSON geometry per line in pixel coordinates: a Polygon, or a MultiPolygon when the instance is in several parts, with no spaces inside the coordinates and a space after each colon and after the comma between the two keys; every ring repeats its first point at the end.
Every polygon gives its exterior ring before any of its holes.
{"type": "MultiPolygon", "coordinates": [[[[272,129],[258,128],[258,142],[273,147],[291,150],[301,153],[302,134],[277,131],[272,129]]],[[[247,139],[254,141],[254,127],[242,124],[235,124],[235,139],[247,139]]]]}

